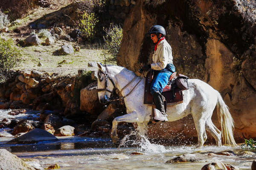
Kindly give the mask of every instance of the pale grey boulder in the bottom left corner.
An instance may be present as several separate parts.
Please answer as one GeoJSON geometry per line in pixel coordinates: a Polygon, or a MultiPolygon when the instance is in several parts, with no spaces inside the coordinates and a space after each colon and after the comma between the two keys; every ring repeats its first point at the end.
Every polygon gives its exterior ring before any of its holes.
{"type": "Polygon", "coordinates": [[[5,149],[0,149],[0,169],[1,170],[35,170],[25,161],[5,149]]]}

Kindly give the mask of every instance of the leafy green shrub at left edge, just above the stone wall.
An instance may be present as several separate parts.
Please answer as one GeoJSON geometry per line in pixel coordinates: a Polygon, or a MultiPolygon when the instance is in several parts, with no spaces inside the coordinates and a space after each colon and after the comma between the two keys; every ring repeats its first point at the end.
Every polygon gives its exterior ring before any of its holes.
{"type": "Polygon", "coordinates": [[[3,71],[13,68],[20,57],[20,50],[15,47],[12,39],[3,40],[0,38],[0,68],[3,71]]]}

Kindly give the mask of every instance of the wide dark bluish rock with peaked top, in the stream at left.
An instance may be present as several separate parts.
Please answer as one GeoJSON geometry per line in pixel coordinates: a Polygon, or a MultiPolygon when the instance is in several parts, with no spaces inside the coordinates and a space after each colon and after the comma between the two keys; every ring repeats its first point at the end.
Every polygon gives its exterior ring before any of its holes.
{"type": "Polygon", "coordinates": [[[28,133],[17,137],[16,139],[12,139],[11,141],[7,142],[7,144],[29,144],[29,143],[37,143],[43,140],[58,140],[55,136],[51,133],[47,132],[43,129],[32,129],[28,133]]]}

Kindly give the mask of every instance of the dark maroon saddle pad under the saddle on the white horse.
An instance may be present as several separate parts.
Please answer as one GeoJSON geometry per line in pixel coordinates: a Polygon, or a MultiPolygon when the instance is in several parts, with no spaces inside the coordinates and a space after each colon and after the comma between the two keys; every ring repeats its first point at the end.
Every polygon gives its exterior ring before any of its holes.
{"type": "MultiPolygon", "coordinates": [[[[150,94],[150,83],[147,81],[147,78],[145,79],[145,88],[144,88],[144,104],[154,104],[153,96],[150,94]]],[[[172,91],[165,91],[162,93],[162,95],[166,99],[167,104],[179,104],[183,102],[183,93],[180,88],[173,88],[174,89],[174,95],[172,91]]]]}

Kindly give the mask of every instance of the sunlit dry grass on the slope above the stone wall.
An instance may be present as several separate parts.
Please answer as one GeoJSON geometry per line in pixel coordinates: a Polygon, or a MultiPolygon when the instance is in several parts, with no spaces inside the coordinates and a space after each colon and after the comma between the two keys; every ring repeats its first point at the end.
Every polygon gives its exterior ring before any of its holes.
{"type": "MultiPolygon", "coordinates": [[[[38,8],[36,11],[32,12],[28,16],[21,18],[20,25],[12,26],[9,28],[9,33],[2,33],[0,37],[8,39],[12,38],[14,41],[16,39],[24,40],[33,31],[29,24],[45,14],[49,14],[56,9],[52,8],[38,8]],[[20,33],[13,32],[14,29],[19,29],[20,33]]],[[[39,30],[35,30],[37,33],[39,30]]],[[[102,45],[101,44],[87,44],[81,45],[80,51],[76,51],[73,55],[55,55],[54,52],[61,48],[61,45],[70,44],[78,45],[76,42],[67,42],[65,40],[58,40],[53,45],[44,45],[45,39],[41,39],[42,45],[38,46],[26,46],[20,47],[22,50],[22,58],[20,63],[14,70],[38,70],[42,72],[47,72],[49,74],[58,73],[59,75],[67,74],[77,74],[79,69],[93,70],[93,68],[87,68],[88,62],[99,61],[104,63],[104,57],[102,55],[102,45]],[[59,62],[66,60],[66,64],[59,65],[59,62]],[[38,66],[38,62],[43,65],[38,66]]]]}

